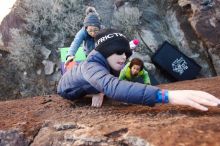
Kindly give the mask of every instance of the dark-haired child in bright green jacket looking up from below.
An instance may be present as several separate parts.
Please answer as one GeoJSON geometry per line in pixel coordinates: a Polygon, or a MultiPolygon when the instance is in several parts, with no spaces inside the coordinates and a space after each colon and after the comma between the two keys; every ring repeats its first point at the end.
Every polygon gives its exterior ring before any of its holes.
{"type": "Polygon", "coordinates": [[[148,72],[144,69],[144,63],[139,58],[133,58],[131,62],[125,65],[120,72],[119,79],[148,85],[151,84],[148,72]]]}

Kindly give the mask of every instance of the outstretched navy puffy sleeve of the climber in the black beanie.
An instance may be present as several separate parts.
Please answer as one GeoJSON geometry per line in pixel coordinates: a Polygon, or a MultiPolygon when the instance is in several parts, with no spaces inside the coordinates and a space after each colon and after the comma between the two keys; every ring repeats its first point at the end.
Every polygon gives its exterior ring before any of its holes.
{"type": "Polygon", "coordinates": [[[156,103],[157,87],[119,80],[95,62],[87,63],[82,72],[94,88],[114,100],[149,106],[156,103]]]}

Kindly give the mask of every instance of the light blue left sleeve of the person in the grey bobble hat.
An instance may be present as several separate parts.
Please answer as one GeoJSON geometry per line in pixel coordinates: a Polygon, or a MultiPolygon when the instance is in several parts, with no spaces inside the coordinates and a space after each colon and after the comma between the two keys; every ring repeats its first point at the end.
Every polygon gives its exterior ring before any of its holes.
{"type": "Polygon", "coordinates": [[[85,29],[82,28],[75,36],[73,42],[70,45],[70,49],[69,52],[67,54],[67,56],[72,55],[75,56],[78,48],[80,47],[80,45],[83,43],[83,40],[85,40],[86,38],[86,34],[85,34],[85,29]]]}

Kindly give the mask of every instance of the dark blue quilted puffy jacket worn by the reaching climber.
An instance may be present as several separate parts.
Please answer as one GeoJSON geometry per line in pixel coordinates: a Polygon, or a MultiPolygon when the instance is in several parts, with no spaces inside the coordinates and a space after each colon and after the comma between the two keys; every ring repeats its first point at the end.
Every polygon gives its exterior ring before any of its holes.
{"type": "Polygon", "coordinates": [[[86,61],[77,64],[62,76],[57,91],[59,95],[70,100],[102,92],[114,100],[154,105],[159,88],[119,80],[110,74],[107,60],[93,50],[86,61]]]}

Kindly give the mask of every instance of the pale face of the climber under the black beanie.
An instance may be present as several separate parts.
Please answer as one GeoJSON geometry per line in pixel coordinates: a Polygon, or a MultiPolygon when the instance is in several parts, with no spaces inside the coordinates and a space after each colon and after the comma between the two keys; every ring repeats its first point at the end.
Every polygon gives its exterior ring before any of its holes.
{"type": "Polygon", "coordinates": [[[124,67],[124,63],[126,61],[126,55],[125,53],[121,55],[112,54],[107,58],[107,61],[112,69],[114,69],[115,71],[120,71],[124,67]]]}

